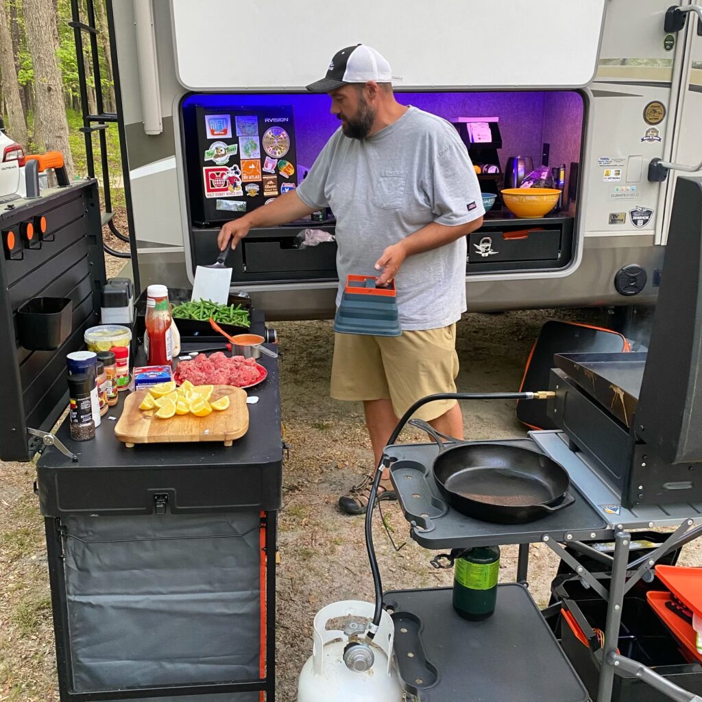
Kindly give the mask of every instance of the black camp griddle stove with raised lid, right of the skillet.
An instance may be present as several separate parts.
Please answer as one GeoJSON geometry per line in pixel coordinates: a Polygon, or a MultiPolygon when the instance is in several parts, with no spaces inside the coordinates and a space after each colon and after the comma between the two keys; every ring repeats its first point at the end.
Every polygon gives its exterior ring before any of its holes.
{"type": "Polygon", "coordinates": [[[649,351],[555,356],[548,414],[563,434],[534,437],[563,465],[578,454],[609,514],[702,512],[701,281],[702,178],[679,178],[649,351]]]}

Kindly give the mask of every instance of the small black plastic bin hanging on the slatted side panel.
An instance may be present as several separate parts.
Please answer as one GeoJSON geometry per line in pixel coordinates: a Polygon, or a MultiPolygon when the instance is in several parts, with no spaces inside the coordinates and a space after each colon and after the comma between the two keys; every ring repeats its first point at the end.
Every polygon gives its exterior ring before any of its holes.
{"type": "Polygon", "coordinates": [[[32,298],[17,310],[18,338],[28,351],[55,351],[71,336],[71,298],[32,298]]]}

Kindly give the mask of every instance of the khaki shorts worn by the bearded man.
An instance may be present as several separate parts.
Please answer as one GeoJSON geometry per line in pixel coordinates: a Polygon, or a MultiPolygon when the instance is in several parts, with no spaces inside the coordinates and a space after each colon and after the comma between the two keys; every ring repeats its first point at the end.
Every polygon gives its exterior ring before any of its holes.
{"type": "MultiPolygon", "coordinates": [[[[334,334],[331,397],[343,400],[389,399],[401,417],[416,400],[435,392],[456,392],[456,324],[401,336],[334,334]]],[[[414,416],[430,421],[456,400],[437,400],[414,416]]]]}

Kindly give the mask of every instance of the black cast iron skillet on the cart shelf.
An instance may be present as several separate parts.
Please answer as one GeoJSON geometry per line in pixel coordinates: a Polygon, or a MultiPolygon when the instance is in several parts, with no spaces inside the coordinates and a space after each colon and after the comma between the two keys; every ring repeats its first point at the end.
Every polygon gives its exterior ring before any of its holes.
{"type": "Polygon", "coordinates": [[[506,444],[461,442],[413,419],[439,445],[434,477],[453,509],[494,524],[523,524],[575,502],[561,465],[537,451],[506,444]],[[446,448],[442,439],[451,446],[446,448]]]}

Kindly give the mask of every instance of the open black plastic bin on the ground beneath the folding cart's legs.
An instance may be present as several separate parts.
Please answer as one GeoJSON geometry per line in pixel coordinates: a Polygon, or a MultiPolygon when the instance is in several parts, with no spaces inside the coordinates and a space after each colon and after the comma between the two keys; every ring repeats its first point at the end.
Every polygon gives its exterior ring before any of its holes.
{"type": "MultiPolygon", "coordinates": [[[[604,581],[606,578],[601,579],[604,581]]],[[[607,586],[607,583],[603,584],[607,586]]],[[[590,640],[590,646],[583,644],[561,614],[561,647],[595,699],[600,661],[595,656],[598,644],[592,640],[591,630],[599,628],[604,631],[607,602],[596,592],[583,588],[577,576],[557,578],[554,595],[561,601],[562,610],[569,611],[576,622],[581,623],[585,637],[590,640]]],[[[640,591],[624,598],[617,645],[623,656],[644,663],[683,689],[702,694],[702,665],[687,661],[680,644],[649,607],[645,594],[640,591]]],[[[614,677],[612,702],[668,702],[669,699],[635,677],[614,677]]]]}

